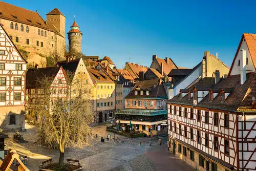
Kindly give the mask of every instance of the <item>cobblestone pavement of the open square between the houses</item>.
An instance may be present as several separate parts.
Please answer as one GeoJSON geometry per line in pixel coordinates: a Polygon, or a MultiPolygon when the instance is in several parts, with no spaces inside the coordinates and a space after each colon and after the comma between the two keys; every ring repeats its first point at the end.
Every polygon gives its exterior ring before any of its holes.
{"type": "MultiPolygon", "coordinates": [[[[58,161],[59,151],[38,147],[35,141],[35,128],[26,125],[27,133],[22,133],[29,143],[16,143],[12,140],[14,133],[8,133],[6,149],[14,148],[19,155],[27,155],[29,162],[27,167],[30,170],[38,170],[39,163],[49,158],[53,162],[58,161]]],[[[67,148],[65,160],[80,160],[83,170],[192,170],[186,163],[174,157],[167,151],[167,137],[162,137],[164,144],[158,145],[158,138],[135,138],[131,139],[117,135],[120,142],[100,142],[100,137],[106,137],[105,125],[93,127],[93,134],[98,134],[97,139],[92,139],[90,145],[83,148],[67,148]],[[148,142],[152,140],[152,146],[148,142]],[[121,142],[123,141],[123,142],[121,142]],[[139,143],[142,142],[142,145],[139,143]],[[177,168],[176,168],[177,167],[177,168]]]]}

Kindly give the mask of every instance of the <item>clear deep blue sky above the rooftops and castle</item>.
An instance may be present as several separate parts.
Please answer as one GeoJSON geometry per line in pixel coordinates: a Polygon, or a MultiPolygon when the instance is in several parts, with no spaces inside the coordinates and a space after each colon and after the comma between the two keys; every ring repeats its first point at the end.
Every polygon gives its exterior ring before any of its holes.
{"type": "Polygon", "coordinates": [[[124,67],[129,56],[131,62],[150,66],[153,54],[170,57],[177,66],[193,68],[204,51],[218,52],[230,67],[242,33],[256,33],[254,0],[5,2],[38,10],[43,18],[57,7],[66,16],[66,32],[75,15],[83,33],[82,53],[109,56],[118,68],[124,67]]]}

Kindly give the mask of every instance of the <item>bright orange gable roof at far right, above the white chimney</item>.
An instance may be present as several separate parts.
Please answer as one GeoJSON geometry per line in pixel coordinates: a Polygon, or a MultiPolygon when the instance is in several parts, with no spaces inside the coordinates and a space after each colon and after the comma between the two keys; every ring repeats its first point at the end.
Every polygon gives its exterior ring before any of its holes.
{"type": "Polygon", "coordinates": [[[245,42],[246,42],[246,45],[248,47],[248,50],[249,50],[249,53],[250,53],[250,56],[251,56],[253,66],[254,66],[254,68],[256,68],[256,34],[243,33],[243,35],[241,37],[241,40],[240,40],[240,43],[239,43],[239,46],[238,46],[238,49],[237,49],[237,52],[234,55],[234,59],[233,59],[233,62],[231,64],[228,76],[231,74],[231,71],[232,71],[232,68],[233,68],[233,65],[234,65],[234,61],[236,61],[236,58],[238,56],[238,52],[241,48],[243,40],[245,40],[245,42]]]}

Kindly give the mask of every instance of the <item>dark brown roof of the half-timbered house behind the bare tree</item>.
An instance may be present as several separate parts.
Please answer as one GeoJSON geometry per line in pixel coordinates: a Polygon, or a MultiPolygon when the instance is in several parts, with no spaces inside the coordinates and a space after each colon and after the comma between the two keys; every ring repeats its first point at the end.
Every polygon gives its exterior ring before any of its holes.
{"type": "Polygon", "coordinates": [[[40,88],[40,84],[37,80],[44,78],[45,76],[56,77],[57,73],[62,67],[47,67],[47,68],[34,68],[28,69],[26,73],[26,88],[40,88]]]}

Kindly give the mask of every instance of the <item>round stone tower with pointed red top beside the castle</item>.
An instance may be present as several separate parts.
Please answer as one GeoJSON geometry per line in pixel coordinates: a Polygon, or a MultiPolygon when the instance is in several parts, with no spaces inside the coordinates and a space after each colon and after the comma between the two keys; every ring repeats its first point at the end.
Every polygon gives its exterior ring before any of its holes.
{"type": "Polygon", "coordinates": [[[71,30],[68,32],[69,53],[81,53],[82,33],[79,30],[79,26],[77,25],[76,20],[70,28],[71,30]]]}

